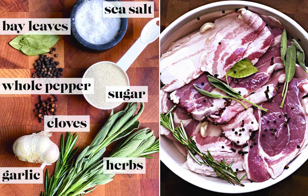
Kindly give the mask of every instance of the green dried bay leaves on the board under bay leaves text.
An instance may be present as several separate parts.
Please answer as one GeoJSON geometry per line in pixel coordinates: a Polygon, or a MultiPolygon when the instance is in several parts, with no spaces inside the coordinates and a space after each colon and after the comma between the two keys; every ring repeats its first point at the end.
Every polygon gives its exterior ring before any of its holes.
{"type": "Polygon", "coordinates": [[[9,44],[28,56],[34,56],[48,53],[49,48],[55,45],[60,38],[58,35],[19,35],[9,44]]]}

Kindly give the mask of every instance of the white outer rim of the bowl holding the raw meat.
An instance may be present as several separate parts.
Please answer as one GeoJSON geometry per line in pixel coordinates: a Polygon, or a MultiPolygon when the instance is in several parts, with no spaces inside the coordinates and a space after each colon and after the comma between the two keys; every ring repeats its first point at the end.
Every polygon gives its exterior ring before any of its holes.
{"type": "MultiPolygon", "coordinates": [[[[265,6],[260,3],[255,3],[255,2],[248,2],[248,1],[221,1],[221,2],[214,2],[214,3],[209,3],[204,6],[200,6],[196,9],[193,9],[179,18],[177,18],[175,21],[173,21],[170,25],[164,29],[164,31],[160,34],[160,46],[163,45],[161,43],[162,40],[164,40],[164,37],[171,31],[171,33],[174,33],[176,30],[180,28],[177,27],[179,23],[183,22],[187,18],[191,18],[191,16],[199,11],[206,10],[209,8],[214,8],[217,6],[226,6],[226,5],[234,5],[234,6],[253,6],[261,10],[265,10],[268,12],[271,12],[273,14],[279,15],[282,19],[288,21],[294,27],[300,31],[305,38],[308,37],[308,33],[306,32],[305,29],[303,29],[297,22],[295,22],[292,18],[288,17],[286,14],[283,14],[282,12],[275,10],[274,8],[271,8],[269,6],[265,6]]],[[[162,135],[161,135],[162,136],[162,135]]],[[[165,138],[167,139],[167,138],[165,138]]],[[[308,159],[308,156],[305,157],[305,154],[308,153],[308,147],[306,146],[304,149],[302,149],[301,154],[297,155],[293,160],[296,159],[296,164],[297,165],[292,165],[288,170],[284,170],[282,174],[280,174],[276,179],[270,178],[264,182],[258,182],[258,183],[245,183],[244,187],[237,187],[233,186],[231,184],[224,184],[224,183],[219,183],[219,182],[214,182],[211,180],[207,180],[205,178],[202,178],[201,175],[193,173],[192,171],[189,171],[187,169],[184,169],[180,163],[172,159],[165,151],[165,149],[161,146],[160,142],[160,160],[176,175],[178,175],[180,178],[184,179],[185,181],[198,186],[200,188],[204,188],[207,190],[215,191],[215,192],[220,192],[220,193],[247,193],[247,192],[252,192],[256,190],[261,190],[266,187],[269,187],[271,185],[274,185],[284,178],[288,177],[290,174],[292,174],[294,171],[296,171],[299,167],[302,166],[303,163],[308,159]]],[[[294,163],[291,161],[290,164],[294,163]]],[[[290,165],[289,164],[289,165],[290,165]]]]}

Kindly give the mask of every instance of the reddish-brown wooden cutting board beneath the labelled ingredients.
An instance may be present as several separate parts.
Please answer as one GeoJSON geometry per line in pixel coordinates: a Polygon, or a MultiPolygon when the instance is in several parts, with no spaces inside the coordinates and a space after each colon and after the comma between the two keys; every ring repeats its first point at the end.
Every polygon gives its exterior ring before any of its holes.
{"type": "MultiPolygon", "coordinates": [[[[159,16],[159,1],[155,0],[155,17],[159,16]]],[[[75,0],[1,0],[0,18],[69,18],[75,0]]],[[[70,35],[62,38],[54,46],[57,50],[55,58],[64,68],[62,77],[82,77],[85,70],[98,61],[116,62],[132,46],[140,36],[144,25],[151,18],[129,18],[128,29],[119,44],[103,53],[91,53],[81,49],[70,35]]],[[[38,56],[28,57],[11,47],[8,42],[15,35],[0,36],[0,77],[31,77],[34,73],[34,61],[38,56]]],[[[158,137],[159,110],[159,41],[149,44],[132,66],[127,70],[131,85],[148,86],[148,103],[140,116],[140,128],[149,127],[158,137]]],[[[48,54],[48,56],[52,56],[48,54]]],[[[50,97],[44,95],[43,98],[50,97]]],[[[103,126],[110,110],[99,110],[92,107],[83,95],[59,95],[57,115],[90,115],[90,132],[79,132],[76,146],[89,145],[95,134],[103,126]]],[[[0,95],[0,167],[39,167],[18,160],[14,157],[12,145],[22,136],[43,130],[33,112],[38,95],[0,95]]],[[[124,108],[117,107],[116,111],[124,108]]],[[[51,140],[59,145],[61,132],[52,133],[51,140]]],[[[105,156],[111,152],[111,144],[105,156]]],[[[80,151],[79,151],[80,152],[80,151]]],[[[159,194],[159,155],[147,159],[146,174],[118,174],[106,185],[100,185],[89,196],[148,196],[159,194]]],[[[54,171],[54,166],[47,166],[54,171]]],[[[45,170],[44,170],[45,173],[45,170]]],[[[51,175],[52,172],[50,172],[51,175]]],[[[38,196],[43,184],[0,184],[0,196],[38,196]]]]}

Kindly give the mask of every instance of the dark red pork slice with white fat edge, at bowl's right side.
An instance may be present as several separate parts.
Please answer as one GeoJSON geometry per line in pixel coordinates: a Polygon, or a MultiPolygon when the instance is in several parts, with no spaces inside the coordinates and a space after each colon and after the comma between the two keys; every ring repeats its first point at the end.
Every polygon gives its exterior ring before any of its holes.
{"type": "Polygon", "coordinates": [[[304,83],[304,78],[293,78],[283,108],[279,108],[282,96],[277,94],[272,102],[262,104],[268,112],[263,115],[255,112],[259,131],[254,141],[249,140],[253,148],[245,147],[249,153],[244,157],[244,168],[250,180],[263,182],[270,177],[277,178],[307,145],[307,113],[302,101],[306,93],[300,90],[307,88],[302,85],[304,83]]]}

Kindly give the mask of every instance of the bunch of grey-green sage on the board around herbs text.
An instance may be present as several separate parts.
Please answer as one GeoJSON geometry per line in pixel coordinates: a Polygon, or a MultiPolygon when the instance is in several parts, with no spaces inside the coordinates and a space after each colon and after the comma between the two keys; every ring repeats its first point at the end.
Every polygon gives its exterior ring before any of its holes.
{"type": "MultiPolygon", "coordinates": [[[[103,174],[103,162],[100,160],[106,147],[127,135],[139,127],[137,120],[144,109],[144,103],[136,115],[137,103],[130,103],[124,111],[113,114],[105,125],[97,133],[90,146],[80,153],[76,161],[71,165],[67,175],[59,183],[57,196],[75,196],[93,191],[96,185],[106,184],[112,180],[114,174],[103,174]]],[[[126,140],[120,142],[111,153],[112,157],[149,157],[149,154],[158,151],[158,140],[155,141],[153,132],[148,128],[136,131],[126,140]]]]}

